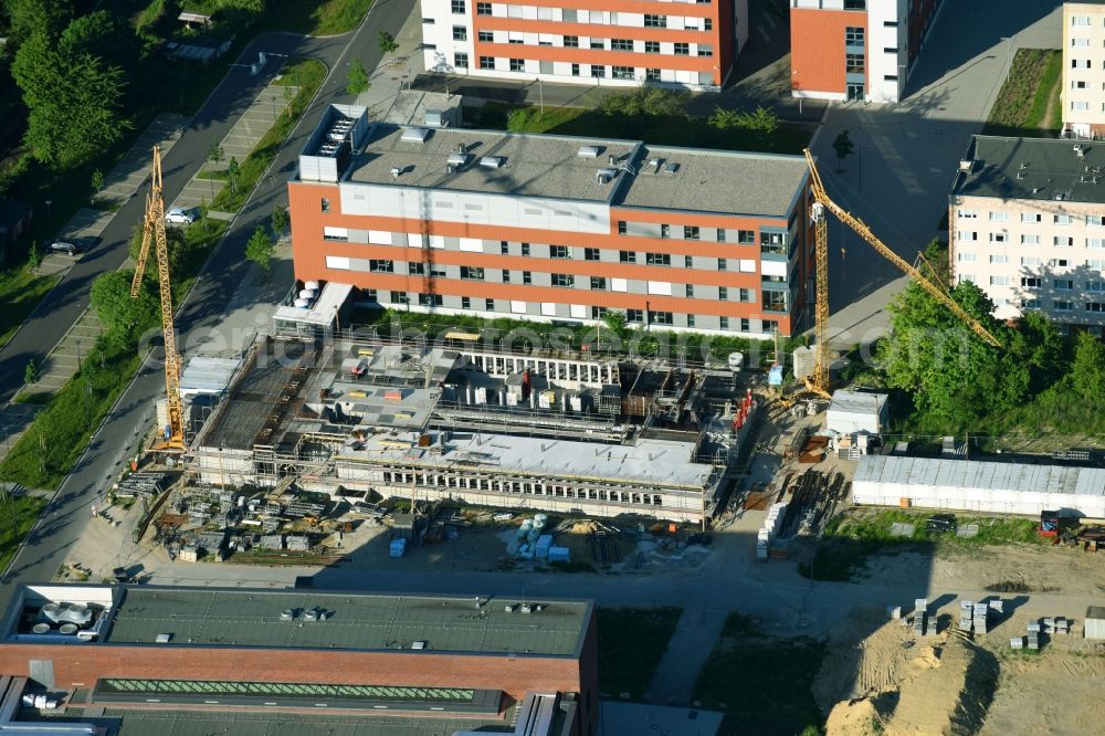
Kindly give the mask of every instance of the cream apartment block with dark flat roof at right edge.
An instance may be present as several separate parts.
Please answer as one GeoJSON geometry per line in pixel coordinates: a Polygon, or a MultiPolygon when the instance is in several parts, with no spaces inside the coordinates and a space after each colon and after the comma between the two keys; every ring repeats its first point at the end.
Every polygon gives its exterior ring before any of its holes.
{"type": "Polygon", "coordinates": [[[1064,328],[1105,325],[1105,150],[975,136],[949,202],[955,281],[998,318],[1039,309],[1064,328]]]}

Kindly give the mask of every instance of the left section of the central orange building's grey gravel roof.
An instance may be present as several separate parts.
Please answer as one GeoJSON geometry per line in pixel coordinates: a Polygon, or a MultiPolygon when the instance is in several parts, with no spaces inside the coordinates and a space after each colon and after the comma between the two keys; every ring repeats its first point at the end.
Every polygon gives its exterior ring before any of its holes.
{"type": "MultiPolygon", "coordinates": [[[[444,189],[517,197],[610,201],[618,179],[599,183],[596,172],[609,167],[609,157],[629,160],[641,145],[635,140],[599,140],[569,136],[421,128],[425,139],[403,140],[406,128],[377,124],[369,132],[347,179],[354,182],[444,189]],[[467,165],[449,171],[449,157],[463,146],[467,165]],[[597,158],[580,157],[586,146],[597,158]],[[483,157],[502,157],[499,168],[480,165],[483,157]],[[393,177],[392,169],[402,174],[393,177]]],[[[613,168],[617,168],[613,167],[613,168]]]]}

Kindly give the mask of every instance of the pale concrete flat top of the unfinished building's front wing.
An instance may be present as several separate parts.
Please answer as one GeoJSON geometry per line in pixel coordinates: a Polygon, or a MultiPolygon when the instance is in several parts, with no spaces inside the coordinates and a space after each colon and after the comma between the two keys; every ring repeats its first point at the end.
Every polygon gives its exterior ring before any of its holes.
{"type": "Polygon", "coordinates": [[[382,460],[430,466],[466,465],[548,477],[578,476],[653,487],[702,490],[714,467],[692,460],[690,442],[639,438],[632,445],[573,440],[453,432],[441,445],[417,446],[412,433],[373,434],[359,449],[345,448],[338,461],[382,460]]]}

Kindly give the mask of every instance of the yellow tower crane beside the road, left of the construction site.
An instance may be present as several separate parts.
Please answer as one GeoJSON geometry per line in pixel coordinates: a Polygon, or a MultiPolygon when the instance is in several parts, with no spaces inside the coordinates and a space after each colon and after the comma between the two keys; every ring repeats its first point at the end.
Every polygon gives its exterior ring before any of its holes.
{"type": "Polygon", "coordinates": [[[180,356],[177,354],[177,332],[172,323],[172,282],[169,280],[169,246],[165,236],[165,200],[161,197],[161,149],[154,146],[154,174],[150,177],[149,193],[146,194],[146,221],[141,235],[141,250],[135,263],[135,276],[130,282],[130,298],[141,291],[141,278],[146,273],[149,243],[154,241],[157,251],[157,282],[161,292],[161,336],[165,341],[165,396],[169,408],[169,437],[154,445],[159,452],[183,452],[185,419],[180,403],[180,356]]]}

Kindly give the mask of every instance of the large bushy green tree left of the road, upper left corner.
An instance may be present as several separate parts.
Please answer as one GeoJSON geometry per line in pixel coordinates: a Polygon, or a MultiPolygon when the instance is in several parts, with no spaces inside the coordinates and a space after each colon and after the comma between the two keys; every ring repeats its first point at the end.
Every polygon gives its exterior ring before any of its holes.
{"type": "Polygon", "coordinates": [[[44,164],[78,166],[131,127],[120,112],[123,70],[92,54],[71,53],[44,32],[20,46],[11,74],[28,107],[24,143],[44,164]]]}

